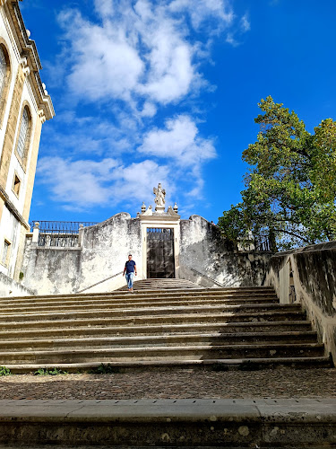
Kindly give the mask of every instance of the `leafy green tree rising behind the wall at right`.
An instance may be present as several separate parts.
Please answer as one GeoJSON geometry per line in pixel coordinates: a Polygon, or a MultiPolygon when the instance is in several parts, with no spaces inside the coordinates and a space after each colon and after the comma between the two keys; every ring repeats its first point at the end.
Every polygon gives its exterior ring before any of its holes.
{"type": "Polygon", "coordinates": [[[323,120],[311,135],[271,96],[259,107],[257,141],[243,152],[246,189],[220,216],[222,232],[237,241],[252,231],[273,251],[336,239],[336,122],[323,120]]]}

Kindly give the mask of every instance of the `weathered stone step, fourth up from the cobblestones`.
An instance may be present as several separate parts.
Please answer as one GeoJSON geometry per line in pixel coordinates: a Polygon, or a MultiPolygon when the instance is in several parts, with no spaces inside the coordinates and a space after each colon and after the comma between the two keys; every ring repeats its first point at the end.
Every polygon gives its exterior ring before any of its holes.
{"type": "Polygon", "coordinates": [[[260,321],[260,322],[206,322],[187,324],[161,324],[147,326],[106,326],[101,327],[99,321],[96,325],[89,324],[85,327],[74,328],[53,328],[53,322],[48,322],[49,327],[40,329],[2,330],[0,340],[9,339],[67,339],[83,338],[84,336],[111,337],[111,336],[136,336],[136,335],[184,335],[190,332],[222,332],[223,334],[242,334],[246,332],[309,332],[311,330],[310,321],[260,321]]]}

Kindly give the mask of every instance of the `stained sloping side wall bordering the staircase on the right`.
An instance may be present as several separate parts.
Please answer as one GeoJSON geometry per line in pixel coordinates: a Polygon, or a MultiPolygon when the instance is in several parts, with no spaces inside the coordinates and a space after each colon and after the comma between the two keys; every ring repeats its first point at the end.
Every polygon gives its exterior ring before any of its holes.
{"type": "Polygon", "coordinates": [[[265,285],[274,286],[280,303],[288,304],[290,284],[295,290],[295,301],[302,304],[319,339],[335,361],[336,242],[306,246],[272,256],[265,285]]]}

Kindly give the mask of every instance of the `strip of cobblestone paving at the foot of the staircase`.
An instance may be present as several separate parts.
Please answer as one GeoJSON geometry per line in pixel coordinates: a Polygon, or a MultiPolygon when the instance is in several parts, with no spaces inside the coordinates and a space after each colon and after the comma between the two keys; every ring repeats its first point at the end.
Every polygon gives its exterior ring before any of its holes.
{"type": "Polygon", "coordinates": [[[0,399],[331,398],[336,369],[213,372],[150,371],[125,374],[13,374],[0,377],[0,399]]]}

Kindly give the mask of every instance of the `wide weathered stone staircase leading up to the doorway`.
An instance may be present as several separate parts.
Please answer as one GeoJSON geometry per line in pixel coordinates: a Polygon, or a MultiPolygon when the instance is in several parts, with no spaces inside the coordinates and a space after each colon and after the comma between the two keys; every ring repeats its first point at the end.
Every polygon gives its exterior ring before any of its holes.
{"type": "Polygon", "coordinates": [[[331,365],[300,305],[279,304],[271,287],[181,289],[159,282],[142,283],[134,294],[0,298],[0,365],[13,373],[102,363],[331,365]]]}

